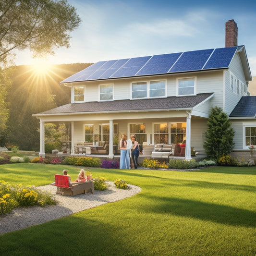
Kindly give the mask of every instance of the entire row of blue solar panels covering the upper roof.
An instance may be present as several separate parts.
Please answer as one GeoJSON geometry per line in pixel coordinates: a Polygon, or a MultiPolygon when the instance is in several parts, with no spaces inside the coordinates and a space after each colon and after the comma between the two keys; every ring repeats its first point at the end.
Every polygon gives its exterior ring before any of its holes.
{"type": "Polygon", "coordinates": [[[205,49],[131,59],[99,61],[61,83],[228,68],[241,47],[205,49]]]}

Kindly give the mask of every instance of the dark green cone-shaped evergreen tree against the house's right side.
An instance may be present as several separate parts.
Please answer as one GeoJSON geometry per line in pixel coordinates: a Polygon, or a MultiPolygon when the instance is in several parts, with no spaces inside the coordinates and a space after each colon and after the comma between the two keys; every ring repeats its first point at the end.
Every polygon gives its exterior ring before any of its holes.
{"type": "Polygon", "coordinates": [[[204,148],[208,158],[219,159],[223,154],[231,153],[234,147],[234,130],[227,113],[215,106],[211,109],[207,121],[204,148]]]}

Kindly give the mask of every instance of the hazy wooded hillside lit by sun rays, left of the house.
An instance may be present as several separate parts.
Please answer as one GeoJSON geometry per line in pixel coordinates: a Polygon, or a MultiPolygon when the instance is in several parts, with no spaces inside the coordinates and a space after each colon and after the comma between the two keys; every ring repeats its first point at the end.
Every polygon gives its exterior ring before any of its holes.
{"type": "Polygon", "coordinates": [[[30,65],[15,67],[7,96],[10,118],[6,142],[20,150],[39,151],[39,119],[32,114],[70,103],[71,88],[60,82],[91,64],[51,65],[43,73],[30,65]]]}

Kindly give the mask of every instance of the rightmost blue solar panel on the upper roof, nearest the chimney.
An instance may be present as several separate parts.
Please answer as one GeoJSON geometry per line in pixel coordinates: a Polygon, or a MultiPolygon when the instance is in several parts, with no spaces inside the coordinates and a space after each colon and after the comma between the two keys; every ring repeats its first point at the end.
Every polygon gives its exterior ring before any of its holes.
{"type": "Polygon", "coordinates": [[[204,69],[227,68],[232,61],[237,47],[215,49],[210,59],[207,61],[204,69]]]}

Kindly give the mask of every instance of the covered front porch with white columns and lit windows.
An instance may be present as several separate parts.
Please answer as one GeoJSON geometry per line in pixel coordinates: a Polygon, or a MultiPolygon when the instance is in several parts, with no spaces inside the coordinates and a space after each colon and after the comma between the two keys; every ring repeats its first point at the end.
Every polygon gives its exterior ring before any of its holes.
{"type": "Polygon", "coordinates": [[[206,130],[207,119],[197,116],[191,119],[191,111],[188,110],[59,116],[59,121],[56,121],[56,116],[44,116],[40,117],[39,156],[46,154],[45,125],[57,123],[62,128],[63,125],[67,127],[63,152],[69,155],[119,158],[121,135],[127,134],[130,138],[134,134],[139,145],[148,151],[143,157],[151,157],[147,147],[152,148],[159,143],[175,145],[186,140],[183,158],[192,159],[191,147],[197,152],[204,152],[202,134],[206,130]]]}

